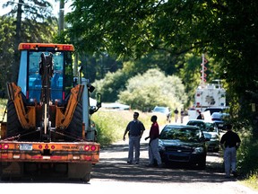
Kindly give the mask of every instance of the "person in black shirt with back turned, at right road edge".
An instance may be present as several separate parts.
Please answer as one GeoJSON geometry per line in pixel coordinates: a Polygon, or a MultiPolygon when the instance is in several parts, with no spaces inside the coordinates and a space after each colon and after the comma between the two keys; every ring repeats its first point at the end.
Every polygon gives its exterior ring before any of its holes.
{"type": "Polygon", "coordinates": [[[224,165],[226,178],[230,178],[230,170],[236,177],[236,150],[240,146],[241,140],[236,132],[232,131],[232,125],[225,126],[227,133],[220,139],[220,146],[224,150],[224,165]]]}

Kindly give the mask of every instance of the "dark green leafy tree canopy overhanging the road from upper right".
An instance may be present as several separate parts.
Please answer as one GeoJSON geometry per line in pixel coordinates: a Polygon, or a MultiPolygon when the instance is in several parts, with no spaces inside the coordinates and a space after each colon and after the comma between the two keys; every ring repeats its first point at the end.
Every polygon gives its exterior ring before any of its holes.
{"type": "Polygon", "coordinates": [[[246,90],[257,91],[256,7],[255,0],[74,1],[67,21],[73,24],[71,36],[78,37],[74,43],[86,52],[107,50],[140,58],[164,50],[171,66],[186,52],[207,53],[219,63],[219,75],[235,96],[234,104],[248,110],[246,117],[254,101],[246,90]]]}

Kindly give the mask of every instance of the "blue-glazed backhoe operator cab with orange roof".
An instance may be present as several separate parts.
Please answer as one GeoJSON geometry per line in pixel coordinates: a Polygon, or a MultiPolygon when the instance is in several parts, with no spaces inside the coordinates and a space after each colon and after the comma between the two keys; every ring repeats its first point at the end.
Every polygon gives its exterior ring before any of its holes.
{"type": "Polygon", "coordinates": [[[49,66],[49,71],[53,75],[50,81],[50,100],[53,103],[55,101],[62,103],[73,88],[73,46],[39,47],[39,44],[21,44],[19,49],[22,56],[18,85],[22,88],[22,93],[26,94],[26,100],[28,102],[40,101],[42,67],[39,66],[39,59],[41,54],[46,57],[50,57],[51,54],[53,66],[49,66]]]}

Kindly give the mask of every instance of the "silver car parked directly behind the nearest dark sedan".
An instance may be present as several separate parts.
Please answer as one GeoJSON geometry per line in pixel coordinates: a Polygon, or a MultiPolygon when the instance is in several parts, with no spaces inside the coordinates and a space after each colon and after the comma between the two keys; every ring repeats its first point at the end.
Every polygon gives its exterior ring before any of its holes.
{"type": "Polygon", "coordinates": [[[190,119],[188,120],[186,125],[200,128],[204,134],[204,137],[209,139],[209,141],[207,142],[208,150],[211,150],[213,152],[219,151],[220,134],[219,128],[215,122],[209,122],[202,119],[190,119]]]}

